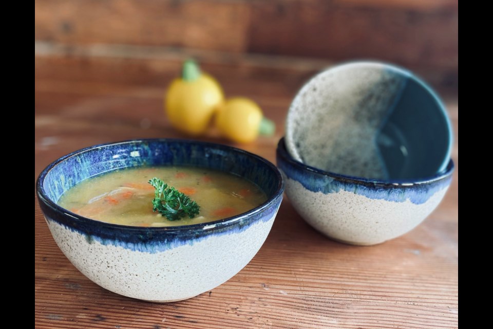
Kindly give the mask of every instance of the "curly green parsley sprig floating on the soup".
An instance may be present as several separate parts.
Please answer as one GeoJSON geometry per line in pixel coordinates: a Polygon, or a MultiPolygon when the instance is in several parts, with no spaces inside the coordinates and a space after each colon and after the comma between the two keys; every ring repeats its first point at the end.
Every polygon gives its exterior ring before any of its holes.
{"type": "Polygon", "coordinates": [[[178,221],[185,215],[190,218],[198,215],[200,206],[173,186],[168,187],[164,181],[157,177],[150,179],[149,184],[156,189],[153,199],[154,212],[159,211],[169,221],[178,221]]]}

